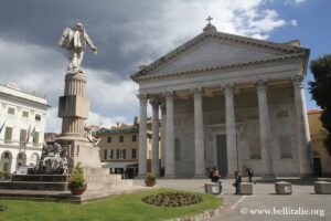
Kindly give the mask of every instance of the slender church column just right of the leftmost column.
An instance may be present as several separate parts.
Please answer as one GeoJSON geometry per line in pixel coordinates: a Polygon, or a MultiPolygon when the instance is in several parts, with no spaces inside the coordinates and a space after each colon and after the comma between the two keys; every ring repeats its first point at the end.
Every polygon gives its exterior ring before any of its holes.
{"type": "Polygon", "coordinates": [[[152,106],[152,160],[151,171],[159,176],[159,101],[152,98],[149,102],[152,106]]]}

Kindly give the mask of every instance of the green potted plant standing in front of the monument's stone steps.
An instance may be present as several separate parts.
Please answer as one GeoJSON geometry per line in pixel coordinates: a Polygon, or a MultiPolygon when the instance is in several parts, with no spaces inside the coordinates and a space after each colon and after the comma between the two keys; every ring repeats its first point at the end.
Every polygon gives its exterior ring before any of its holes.
{"type": "Polygon", "coordinates": [[[73,194],[83,194],[87,183],[84,177],[82,164],[78,162],[70,178],[68,188],[73,194]]]}

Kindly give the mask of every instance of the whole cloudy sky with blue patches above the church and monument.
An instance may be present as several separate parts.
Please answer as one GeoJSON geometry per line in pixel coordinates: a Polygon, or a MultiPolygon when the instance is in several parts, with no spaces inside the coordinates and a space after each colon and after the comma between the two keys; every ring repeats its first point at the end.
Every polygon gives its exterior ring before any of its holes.
{"type": "MultiPolygon", "coordinates": [[[[88,123],[131,124],[139,107],[130,75],[200,34],[207,15],[222,32],[276,42],[299,39],[316,59],[330,53],[330,8],[325,0],[0,0],[0,84],[17,82],[45,95],[52,106],[46,131],[60,131],[57,98],[67,54],[57,41],[66,27],[82,22],[99,50],[83,61],[88,123]]],[[[308,108],[317,108],[306,96],[308,108]]]]}

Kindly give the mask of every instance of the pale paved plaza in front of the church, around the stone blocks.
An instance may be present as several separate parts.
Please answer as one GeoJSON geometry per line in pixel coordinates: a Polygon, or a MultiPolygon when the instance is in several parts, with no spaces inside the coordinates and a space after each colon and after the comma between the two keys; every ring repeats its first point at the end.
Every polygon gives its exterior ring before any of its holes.
{"type": "MultiPolygon", "coordinates": [[[[243,178],[246,181],[247,178],[243,178]]],[[[287,180],[289,181],[289,180],[287,180]]],[[[134,185],[142,185],[143,180],[134,180],[134,185]]],[[[209,179],[158,179],[157,188],[171,188],[204,192],[204,183],[209,179]]],[[[226,212],[212,220],[331,220],[331,196],[314,194],[313,181],[293,179],[292,194],[275,194],[274,182],[258,181],[254,185],[253,196],[236,196],[232,179],[223,180],[223,193],[228,204],[226,212]]]]}

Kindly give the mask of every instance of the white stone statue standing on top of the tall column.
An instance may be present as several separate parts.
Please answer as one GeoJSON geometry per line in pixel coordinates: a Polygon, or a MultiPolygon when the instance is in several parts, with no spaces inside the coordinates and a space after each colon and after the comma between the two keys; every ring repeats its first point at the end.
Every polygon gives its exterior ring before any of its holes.
{"type": "Polygon", "coordinates": [[[90,41],[82,23],[77,23],[73,29],[66,28],[63,31],[58,45],[70,52],[67,71],[83,72],[81,64],[86,50],[86,44],[90,46],[93,53],[97,53],[97,48],[90,41]]]}

